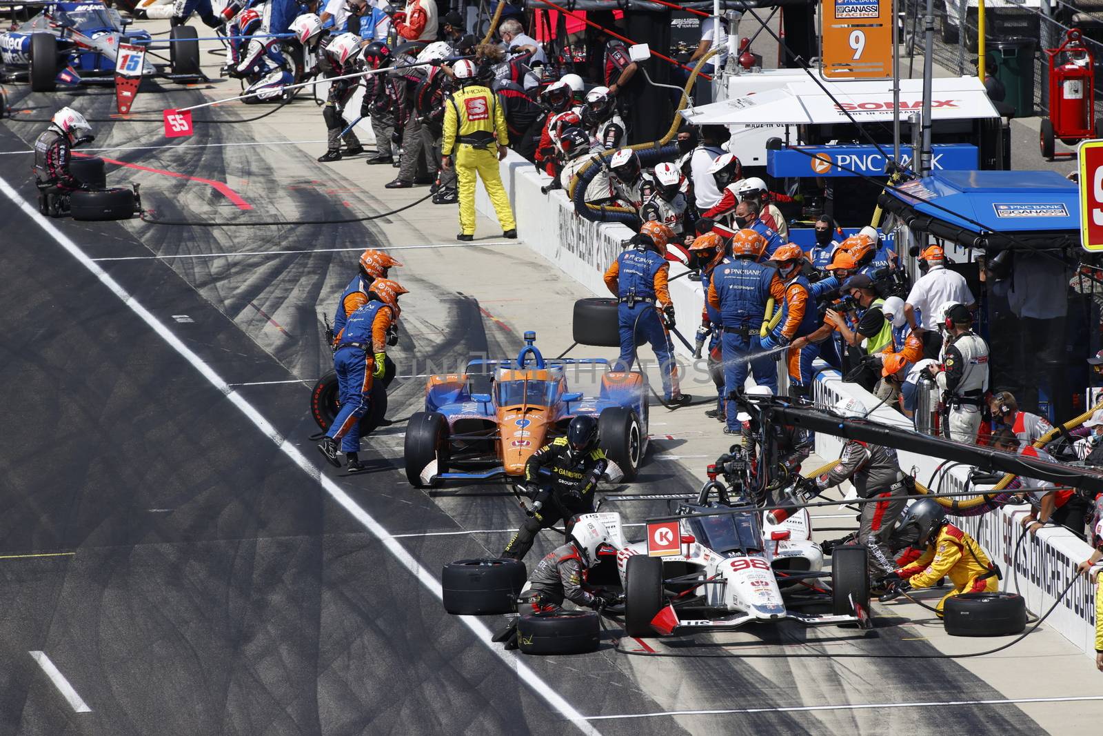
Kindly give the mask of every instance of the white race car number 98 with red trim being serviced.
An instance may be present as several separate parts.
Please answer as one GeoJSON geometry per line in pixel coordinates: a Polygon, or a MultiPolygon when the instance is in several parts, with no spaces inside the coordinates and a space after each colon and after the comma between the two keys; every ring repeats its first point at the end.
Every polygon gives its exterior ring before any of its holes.
{"type": "MultiPolygon", "coordinates": [[[[823,570],[823,550],[812,541],[812,523],[800,509],[779,524],[747,504],[699,495],[607,497],[609,500],[678,499],[667,520],[649,521],[647,538],[627,542],[621,518],[598,512],[576,524],[604,530],[624,590],[624,629],[630,637],[725,630],[756,621],[793,619],[806,625],[857,623],[870,628],[866,548],[840,546],[823,570]],[[676,538],[675,538],[676,534],[676,538]],[[665,551],[665,554],[657,553],[665,551]],[[831,586],[825,587],[829,579],[831,586]],[[793,607],[829,604],[831,614],[793,607]]],[[[593,585],[614,583],[611,570],[591,569],[593,585]]]]}

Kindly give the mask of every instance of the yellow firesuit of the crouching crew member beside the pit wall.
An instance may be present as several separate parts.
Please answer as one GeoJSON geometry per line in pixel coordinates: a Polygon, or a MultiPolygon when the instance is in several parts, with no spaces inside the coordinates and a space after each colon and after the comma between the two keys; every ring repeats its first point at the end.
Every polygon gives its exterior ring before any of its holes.
{"type": "Polygon", "coordinates": [[[942,616],[946,598],[963,593],[995,593],[999,589],[996,566],[984,554],[984,550],[966,532],[946,523],[939,530],[939,536],[927,547],[927,552],[910,565],[897,570],[910,580],[913,588],[928,588],[943,577],[949,577],[954,589],[942,596],[934,607],[942,616]]]}

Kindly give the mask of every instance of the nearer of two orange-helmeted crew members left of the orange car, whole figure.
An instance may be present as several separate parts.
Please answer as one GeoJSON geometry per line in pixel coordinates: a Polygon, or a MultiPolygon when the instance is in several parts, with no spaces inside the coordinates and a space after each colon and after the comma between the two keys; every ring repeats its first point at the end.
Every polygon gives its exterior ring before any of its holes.
{"type": "Polygon", "coordinates": [[[360,450],[360,419],[371,408],[372,382],[383,378],[387,358],[387,330],[398,321],[398,296],[407,294],[398,284],[378,278],[367,292],[367,303],[349,316],[336,337],[333,369],[338,373],[341,410],[318,449],[335,468],[338,440],[345,454],[349,472],[364,470],[360,450]]]}

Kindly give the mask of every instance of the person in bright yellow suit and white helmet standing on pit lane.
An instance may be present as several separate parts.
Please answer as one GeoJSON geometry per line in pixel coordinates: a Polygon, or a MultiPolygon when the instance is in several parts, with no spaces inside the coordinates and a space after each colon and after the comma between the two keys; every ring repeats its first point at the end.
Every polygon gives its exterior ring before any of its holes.
{"type": "Polygon", "coordinates": [[[479,84],[474,62],[461,58],[452,67],[460,89],[452,93],[445,104],[445,141],[441,146],[441,166],[452,166],[449,157],[456,152],[456,175],[460,199],[460,230],[458,241],[472,241],[475,236],[475,172],[494,204],[502,237],[517,237],[517,224],[510,209],[510,198],[502,186],[497,162],[505,158],[510,132],[505,115],[490,87],[479,84]],[[496,138],[496,140],[495,140],[496,138]],[[492,147],[497,145],[497,158],[492,147]]]}

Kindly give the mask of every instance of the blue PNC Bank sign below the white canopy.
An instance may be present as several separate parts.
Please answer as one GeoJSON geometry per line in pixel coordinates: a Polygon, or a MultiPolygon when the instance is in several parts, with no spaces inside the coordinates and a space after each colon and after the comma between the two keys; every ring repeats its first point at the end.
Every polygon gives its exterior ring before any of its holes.
{"type": "MultiPolygon", "coordinates": [[[[892,156],[891,143],[876,146],[802,146],[767,152],[767,171],[771,177],[869,177],[885,175],[888,159],[892,156]]],[[[906,167],[911,166],[912,149],[900,148],[900,158],[906,167]]],[[[934,170],[976,169],[976,146],[952,143],[931,147],[931,166],[934,170]]]]}

